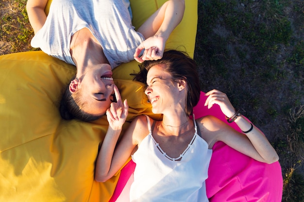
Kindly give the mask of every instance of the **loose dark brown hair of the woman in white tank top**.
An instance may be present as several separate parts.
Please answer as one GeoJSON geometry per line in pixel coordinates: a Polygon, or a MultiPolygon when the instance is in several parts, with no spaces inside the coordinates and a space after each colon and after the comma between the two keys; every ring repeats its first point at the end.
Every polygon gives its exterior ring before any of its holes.
{"type": "Polygon", "coordinates": [[[157,61],[144,61],[140,65],[140,72],[133,74],[134,80],[146,83],[147,74],[152,66],[163,65],[164,70],[168,72],[173,81],[185,80],[186,88],[186,114],[192,115],[193,107],[197,105],[200,99],[201,87],[197,72],[197,65],[185,52],[177,50],[168,50],[164,52],[163,58],[157,61]]]}

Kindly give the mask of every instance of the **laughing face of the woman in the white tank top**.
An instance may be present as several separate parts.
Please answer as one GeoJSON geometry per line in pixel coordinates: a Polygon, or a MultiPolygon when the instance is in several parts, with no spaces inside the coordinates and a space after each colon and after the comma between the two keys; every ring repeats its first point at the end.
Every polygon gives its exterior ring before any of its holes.
{"type": "Polygon", "coordinates": [[[164,71],[161,65],[155,65],[149,70],[145,93],[152,104],[152,112],[155,114],[175,108],[180,100],[178,83],[172,81],[171,75],[164,71]]]}

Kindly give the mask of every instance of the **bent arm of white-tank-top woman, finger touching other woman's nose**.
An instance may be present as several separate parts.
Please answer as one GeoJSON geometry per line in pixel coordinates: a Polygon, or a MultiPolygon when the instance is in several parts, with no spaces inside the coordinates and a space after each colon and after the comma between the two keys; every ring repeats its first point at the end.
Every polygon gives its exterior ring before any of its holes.
{"type": "Polygon", "coordinates": [[[98,182],[111,178],[133,153],[138,144],[138,137],[142,138],[142,135],[149,133],[148,129],[143,130],[147,128],[147,118],[138,116],[130,124],[116,147],[122,125],[128,115],[128,104],[126,100],[122,103],[117,86],[114,86],[114,92],[117,103],[111,103],[111,107],[107,109],[109,127],[96,161],[95,180],[98,182]]]}

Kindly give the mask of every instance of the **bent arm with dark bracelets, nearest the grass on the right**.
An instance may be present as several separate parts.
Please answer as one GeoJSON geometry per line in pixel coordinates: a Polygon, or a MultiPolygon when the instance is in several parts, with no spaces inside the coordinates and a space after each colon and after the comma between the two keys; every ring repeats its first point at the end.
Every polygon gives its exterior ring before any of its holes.
{"type": "MultiPolygon", "coordinates": [[[[236,111],[226,94],[212,90],[206,93],[206,95],[209,96],[205,102],[208,108],[213,104],[218,104],[227,117],[234,116],[236,111]]],[[[217,131],[216,136],[209,136],[210,140],[208,141],[212,142],[212,144],[214,144],[215,141],[223,141],[237,151],[265,163],[273,163],[279,159],[279,156],[265,135],[242,115],[236,118],[235,123],[243,132],[249,131],[244,133],[245,135],[237,132],[220,120],[215,119],[215,117],[209,117],[203,121],[205,124],[204,127],[211,125],[211,128],[206,129],[207,132],[217,131]]],[[[208,139],[208,137],[206,139],[208,139]]]]}

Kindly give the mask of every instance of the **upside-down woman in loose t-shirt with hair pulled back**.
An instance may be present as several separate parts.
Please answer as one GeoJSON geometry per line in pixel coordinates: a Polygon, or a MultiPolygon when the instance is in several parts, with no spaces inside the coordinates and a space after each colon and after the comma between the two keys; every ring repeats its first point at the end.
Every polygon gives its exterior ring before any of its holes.
{"type": "Polygon", "coordinates": [[[60,112],[65,119],[83,121],[100,118],[113,102],[113,68],[162,57],[185,10],[185,0],[168,0],[135,31],[128,0],[52,0],[46,16],[47,2],[27,1],[35,33],[31,45],[76,66],[60,112]]]}

